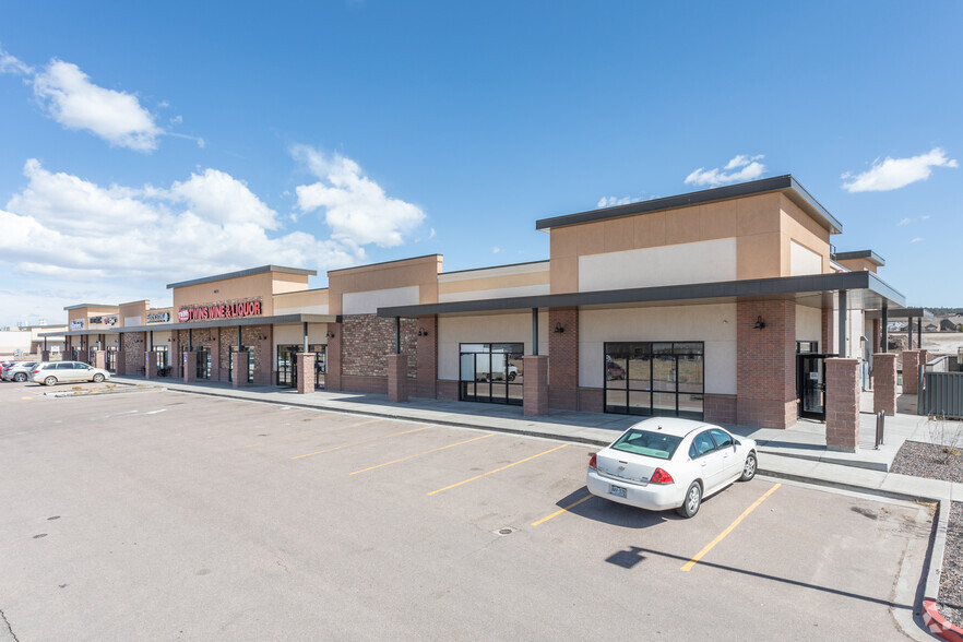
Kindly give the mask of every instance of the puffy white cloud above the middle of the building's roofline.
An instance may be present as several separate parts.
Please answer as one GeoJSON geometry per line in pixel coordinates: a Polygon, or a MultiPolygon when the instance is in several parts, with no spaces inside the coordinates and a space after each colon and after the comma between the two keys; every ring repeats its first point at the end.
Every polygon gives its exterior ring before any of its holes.
{"type": "Polygon", "coordinates": [[[302,212],[324,210],[332,238],[338,241],[383,248],[400,246],[404,236],[425,219],[417,205],[388,197],[346,156],[326,155],[307,145],[292,147],[292,155],[320,179],[295,189],[298,207],[302,212]]]}

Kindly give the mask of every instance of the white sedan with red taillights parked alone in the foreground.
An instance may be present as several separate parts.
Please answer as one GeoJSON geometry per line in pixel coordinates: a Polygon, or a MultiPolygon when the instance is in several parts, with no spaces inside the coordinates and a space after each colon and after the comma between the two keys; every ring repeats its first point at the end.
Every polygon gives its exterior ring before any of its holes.
{"type": "Polygon", "coordinates": [[[756,441],[718,426],[655,417],[640,421],[592,455],[592,495],[651,511],[693,516],[702,498],[756,476],[756,441]]]}

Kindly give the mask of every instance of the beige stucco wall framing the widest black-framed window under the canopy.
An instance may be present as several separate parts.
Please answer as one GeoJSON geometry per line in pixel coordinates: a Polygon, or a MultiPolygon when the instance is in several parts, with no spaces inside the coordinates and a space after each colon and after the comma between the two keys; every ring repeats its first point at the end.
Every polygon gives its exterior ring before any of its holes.
{"type": "Polygon", "coordinates": [[[604,344],[616,341],[701,341],[705,392],[736,393],[736,304],[580,311],[580,387],[603,388],[604,344]]]}

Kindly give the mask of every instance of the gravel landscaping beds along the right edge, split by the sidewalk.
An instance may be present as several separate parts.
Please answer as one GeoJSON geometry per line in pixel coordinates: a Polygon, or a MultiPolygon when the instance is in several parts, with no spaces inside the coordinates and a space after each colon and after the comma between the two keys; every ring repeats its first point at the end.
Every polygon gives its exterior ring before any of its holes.
{"type": "MultiPolygon", "coordinates": [[[[891,472],[928,479],[963,483],[963,450],[947,456],[942,447],[907,441],[896,453],[891,472]],[[940,463],[940,457],[948,460],[940,463]]],[[[939,609],[944,618],[963,627],[963,502],[954,501],[950,509],[947,549],[940,575],[939,609]]]]}

